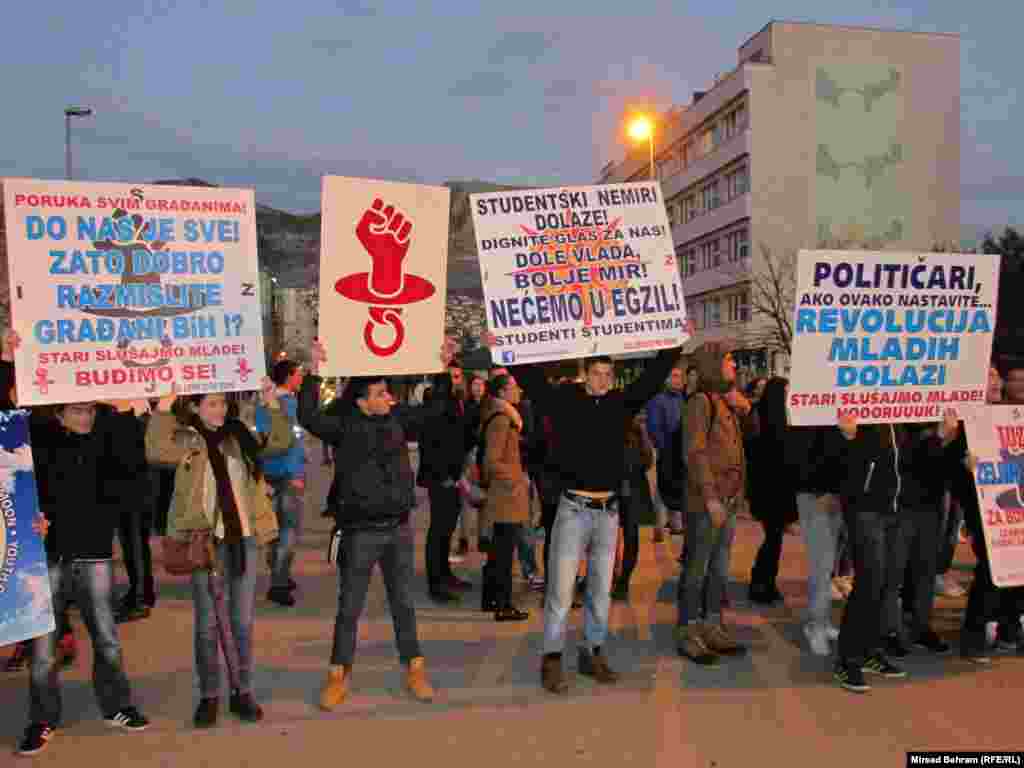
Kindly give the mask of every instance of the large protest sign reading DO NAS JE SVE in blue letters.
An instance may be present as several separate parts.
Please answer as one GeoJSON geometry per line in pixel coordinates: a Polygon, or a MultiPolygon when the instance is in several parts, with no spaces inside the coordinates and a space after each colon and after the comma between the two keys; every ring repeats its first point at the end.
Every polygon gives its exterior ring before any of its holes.
{"type": "Polygon", "coordinates": [[[4,179],[23,406],[256,389],[251,189],[4,179]]]}

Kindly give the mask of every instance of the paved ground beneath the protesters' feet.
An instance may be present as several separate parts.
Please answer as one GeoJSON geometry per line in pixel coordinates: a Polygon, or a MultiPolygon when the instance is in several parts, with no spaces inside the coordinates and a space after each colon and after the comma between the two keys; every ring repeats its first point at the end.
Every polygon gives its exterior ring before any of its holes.
{"type": "MultiPolygon", "coordinates": [[[[160,602],[151,618],[120,628],[126,664],[140,709],[152,719],[139,734],[109,732],[99,719],[90,680],[91,649],[76,621],[80,658],[62,673],[63,726],[40,765],[91,766],[502,766],[746,765],[902,766],[907,750],[1020,749],[1024,659],[1001,656],[979,669],[956,655],[906,660],[905,681],[877,682],[858,696],[830,682],[827,659],[811,656],[799,617],[806,603],[799,537],[785,539],[779,579],[785,606],[749,606],[745,584],[761,542],[742,521],[732,561],[732,610],[727,620],[753,652],[715,670],[676,655],[673,642],[680,540],[654,545],[650,529],[629,604],[615,603],[608,651],[624,673],[614,687],[574,675],[570,692],[553,697],[539,687],[543,623],[541,597],[524,594],[529,622],[497,625],[481,613],[479,592],[460,607],[426,598],[419,528],[420,637],[438,696],[431,705],[401,692],[383,584],[375,575],[349,701],[327,715],[315,706],[330,654],[336,574],[326,561],[329,521],[319,517],[330,482],[319,447],[310,444],[306,532],[297,559],[299,604],[281,608],[263,599],[260,574],[256,618],[257,697],[266,719],[196,731],[191,603],[187,583],[160,568],[160,602]]],[[[155,543],[156,544],[156,543],[155,543]]],[[[159,558],[159,547],[155,546],[159,558]]],[[[969,562],[967,548],[958,560],[969,562]]],[[[261,568],[265,567],[261,563],[261,568]]],[[[471,556],[457,570],[479,583],[471,556]]],[[[965,575],[965,578],[967,578],[965,575]]],[[[837,605],[837,611],[840,605],[837,605]]],[[[955,640],[964,600],[939,599],[936,628],[955,640]]],[[[580,611],[572,625],[579,627],[580,611]]],[[[12,749],[26,724],[27,673],[0,677],[0,741],[12,749]]],[[[226,709],[226,708],[224,708],[226,709]]],[[[7,749],[5,746],[5,749],[7,749]]],[[[6,753],[9,755],[9,753],[6,753]]],[[[0,750],[0,766],[14,765],[0,750]],[[10,762],[8,762],[8,759],[10,762]]]]}

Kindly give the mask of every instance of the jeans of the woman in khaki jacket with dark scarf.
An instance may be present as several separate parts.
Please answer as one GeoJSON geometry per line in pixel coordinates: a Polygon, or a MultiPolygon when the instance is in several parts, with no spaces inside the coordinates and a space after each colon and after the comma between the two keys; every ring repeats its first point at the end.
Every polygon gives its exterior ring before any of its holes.
{"type": "Polygon", "coordinates": [[[244,543],[246,570],[227,556],[227,547],[217,547],[217,573],[197,570],[191,574],[193,608],[195,610],[196,672],[199,691],[203,698],[220,695],[220,638],[214,612],[210,580],[216,579],[223,590],[231,623],[231,639],[238,653],[239,691],[252,692],[253,678],[253,609],[256,605],[256,540],[250,537],[244,543]]]}

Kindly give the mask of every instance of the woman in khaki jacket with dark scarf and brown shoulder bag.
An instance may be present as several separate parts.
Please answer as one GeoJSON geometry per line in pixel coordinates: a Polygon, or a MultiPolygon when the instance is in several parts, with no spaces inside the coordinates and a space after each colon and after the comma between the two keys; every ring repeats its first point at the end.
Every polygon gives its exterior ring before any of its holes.
{"type": "MultiPolygon", "coordinates": [[[[191,574],[200,681],[200,705],[194,718],[198,728],[217,722],[220,693],[220,653],[211,591],[219,585],[212,584],[213,580],[224,586],[237,646],[238,687],[232,686],[230,711],[250,722],[263,716],[252,694],[256,547],[273,538],[276,521],[269,501],[265,496],[260,498],[265,485],[258,462],[288,451],[292,433],[269,379],[263,382],[262,398],[270,413],[270,433],[266,436],[254,435],[243,422],[229,419],[227,399],[221,393],[162,398],[145,434],[150,463],[177,468],[167,535],[187,536],[194,530],[212,530],[214,535],[214,567],[191,574]]],[[[225,653],[228,650],[225,648],[225,653]]]]}

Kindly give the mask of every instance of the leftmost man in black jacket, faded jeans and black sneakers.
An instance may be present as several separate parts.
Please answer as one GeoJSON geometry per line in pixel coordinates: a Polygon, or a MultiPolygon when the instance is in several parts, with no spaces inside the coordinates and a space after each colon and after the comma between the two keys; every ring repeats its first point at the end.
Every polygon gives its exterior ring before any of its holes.
{"type": "MultiPolygon", "coordinates": [[[[56,423],[35,419],[32,440],[39,503],[49,521],[54,613],[74,596],[92,640],[93,685],[103,718],[111,727],[139,731],[148,721],[132,705],[111,605],[114,530],[134,460],[125,453],[134,419],[131,412],[114,413],[95,402],[58,406],[56,423]]],[[[56,635],[33,641],[23,755],[44,750],[60,723],[56,635]]]]}

